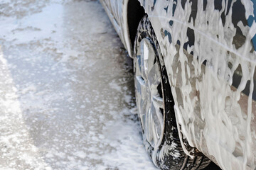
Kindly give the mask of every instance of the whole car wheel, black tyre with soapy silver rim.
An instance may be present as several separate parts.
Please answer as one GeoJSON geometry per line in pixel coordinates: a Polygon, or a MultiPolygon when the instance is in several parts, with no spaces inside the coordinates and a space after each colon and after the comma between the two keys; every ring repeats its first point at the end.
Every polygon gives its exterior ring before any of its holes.
{"type": "Polygon", "coordinates": [[[147,16],[140,21],[134,42],[134,84],[144,146],[154,164],[174,170],[208,166],[210,160],[203,154],[192,159],[183,152],[164,59],[147,16]]]}

